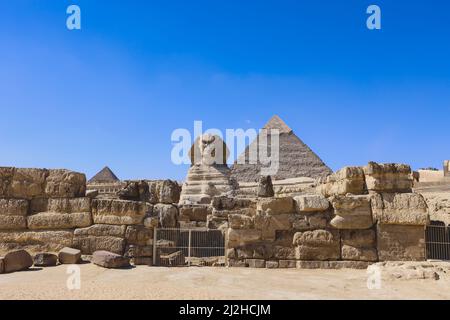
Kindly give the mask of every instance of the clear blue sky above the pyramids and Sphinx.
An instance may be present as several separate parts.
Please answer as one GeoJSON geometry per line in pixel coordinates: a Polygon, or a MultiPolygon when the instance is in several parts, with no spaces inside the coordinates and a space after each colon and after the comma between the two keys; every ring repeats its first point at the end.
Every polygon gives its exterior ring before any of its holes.
{"type": "Polygon", "coordinates": [[[1,0],[0,165],[182,179],[174,129],[279,114],[334,170],[441,168],[449,14],[446,0],[1,0]]]}

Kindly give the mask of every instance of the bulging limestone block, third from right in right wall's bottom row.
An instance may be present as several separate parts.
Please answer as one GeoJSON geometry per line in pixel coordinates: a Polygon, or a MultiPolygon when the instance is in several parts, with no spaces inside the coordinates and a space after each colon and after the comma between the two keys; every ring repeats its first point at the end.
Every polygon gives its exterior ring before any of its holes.
{"type": "Polygon", "coordinates": [[[339,260],[340,239],[336,231],[314,230],[297,232],[293,244],[296,259],[299,260],[339,260]]]}

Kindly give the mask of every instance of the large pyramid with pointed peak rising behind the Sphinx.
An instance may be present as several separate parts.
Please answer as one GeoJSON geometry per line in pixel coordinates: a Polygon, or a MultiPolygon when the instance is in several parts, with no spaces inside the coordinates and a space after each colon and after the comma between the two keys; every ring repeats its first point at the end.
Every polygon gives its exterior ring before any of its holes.
{"type": "MultiPolygon", "coordinates": [[[[275,180],[310,177],[320,178],[332,173],[332,170],[317,156],[302,140],[300,140],[289,126],[277,115],[264,126],[263,129],[278,129],[280,133],[279,169],[272,176],[275,180]]],[[[240,182],[254,182],[261,172],[261,163],[250,164],[249,149],[258,144],[259,136],[239,156],[239,163],[235,162],[231,168],[231,175],[240,182]],[[245,159],[245,161],[244,161],[245,159]]],[[[268,141],[270,146],[270,141],[268,141]]],[[[268,148],[270,153],[270,148],[268,148]]],[[[259,155],[259,151],[258,151],[259,155]]],[[[259,159],[259,157],[258,157],[259,159]]],[[[263,166],[266,167],[266,166],[263,166]]]]}

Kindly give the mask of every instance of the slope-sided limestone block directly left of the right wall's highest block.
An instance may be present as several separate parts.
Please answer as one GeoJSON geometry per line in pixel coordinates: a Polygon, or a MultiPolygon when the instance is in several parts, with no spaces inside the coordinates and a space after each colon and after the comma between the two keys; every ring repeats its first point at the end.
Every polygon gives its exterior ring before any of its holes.
{"type": "Polygon", "coordinates": [[[325,197],[334,195],[364,194],[366,183],[361,167],[344,167],[326,178],[326,182],[318,186],[318,191],[325,197]]]}

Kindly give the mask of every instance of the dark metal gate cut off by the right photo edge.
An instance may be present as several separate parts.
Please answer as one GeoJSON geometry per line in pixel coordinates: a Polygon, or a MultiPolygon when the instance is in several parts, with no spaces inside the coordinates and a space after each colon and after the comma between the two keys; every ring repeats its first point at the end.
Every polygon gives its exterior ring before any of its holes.
{"type": "Polygon", "coordinates": [[[427,259],[450,260],[450,227],[431,221],[425,229],[427,259]]]}

